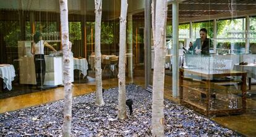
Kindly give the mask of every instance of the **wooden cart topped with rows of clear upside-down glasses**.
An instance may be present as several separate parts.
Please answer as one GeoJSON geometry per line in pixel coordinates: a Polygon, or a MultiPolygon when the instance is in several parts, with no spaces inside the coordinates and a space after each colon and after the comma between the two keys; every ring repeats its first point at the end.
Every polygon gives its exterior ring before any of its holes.
{"type": "MultiPolygon", "coordinates": [[[[188,57],[185,57],[188,59],[188,57]]],[[[205,115],[242,114],[246,109],[246,72],[231,70],[230,60],[213,57],[190,57],[179,69],[182,104],[205,115]],[[207,62],[203,63],[202,62],[207,62]],[[241,76],[242,80],[233,77],[241,76]],[[195,80],[197,79],[197,80],[195,80]],[[241,90],[226,86],[241,83],[241,90]]]]}

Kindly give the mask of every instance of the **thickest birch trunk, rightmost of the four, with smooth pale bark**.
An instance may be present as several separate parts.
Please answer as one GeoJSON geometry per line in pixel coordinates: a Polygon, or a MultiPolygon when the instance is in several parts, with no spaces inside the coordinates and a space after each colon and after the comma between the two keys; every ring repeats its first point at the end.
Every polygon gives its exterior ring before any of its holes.
{"type": "Polygon", "coordinates": [[[166,56],[166,17],[167,17],[167,1],[157,0],[152,7],[155,19],[152,21],[154,46],[155,46],[155,62],[153,72],[153,102],[152,102],[152,136],[164,136],[164,114],[163,114],[163,92],[164,92],[164,62],[166,56]],[[154,12],[155,11],[155,12],[154,12]],[[155,29],[158,28],[158,29],[155,29]]]}

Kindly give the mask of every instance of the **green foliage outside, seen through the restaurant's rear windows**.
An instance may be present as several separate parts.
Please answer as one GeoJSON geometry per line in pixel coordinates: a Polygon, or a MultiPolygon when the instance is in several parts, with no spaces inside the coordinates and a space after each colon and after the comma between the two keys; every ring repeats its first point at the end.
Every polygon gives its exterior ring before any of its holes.
{"type": "MultiPolygon", "coordinates": [[[[114,39],[118,39],[119,35],[115,34],[115,30],[119,29],[119,22],[102,22],[101,23],[101,43],[103,44],[113,44],[114,39]]],[[[95,39],[95,22],[87,22],[87,42],[91,43],[91,28],[93,28],[93,40],[95,39]]],[[[217,21],[217,36],[218,38],[228,38],[226,31],[228,30],[244,30],[245,19],[233,19],[233,20],[218,20],[217,21]]],[[[35,22],[36,31],[41,31],[42,33],[50,33],[53,31],[58,31],[57,22],[35,22]]],[[[197,22],[193,23],[194,35],[198,37],[198,31],[200,28],[207,28],[208,37],[213,38],[213,21],[209,22],[197,22]]],[[[179,30],[189,30],[189,23],[179,25],[179,30]]],[[[250,30],[256,32],[256,17],[250,17],[250,30]]],[[[4,40],[7,46],[17,46],[17,41],[21,38],[20,24],[18,21],[0,21],[0,33],[4,35],[4,40]]],[[[31,35],[30,22],[25,22],[25,34],[31,35]]],[[[173,33],[172,25],[166,26],[167,38],[171,38],[173,33]]],[[[69,22],[69,34],[70,41],[75,39],[82,39],[82,24],[81,22],[69,22]]],[[[194,36],[194,38],[195,38],[194,36]]],[[[135,38],[135,37],[134,37],[135,38]]],[[[138,41],[143,41],[143,37],[137,36],[138,41]]],[[[256,43],[256,33],[250,34],[250,43],[256,43]]],[[[220,42],[218,46],[223,46],[222,48],[230,48],[231,44],[225,43],[238,43],[239,46],[243,47],[245,41],[237,40],[230,41],[226,39],[220,42]]],[[[93,41],[94,43],[94,41],[93,41]]]]}

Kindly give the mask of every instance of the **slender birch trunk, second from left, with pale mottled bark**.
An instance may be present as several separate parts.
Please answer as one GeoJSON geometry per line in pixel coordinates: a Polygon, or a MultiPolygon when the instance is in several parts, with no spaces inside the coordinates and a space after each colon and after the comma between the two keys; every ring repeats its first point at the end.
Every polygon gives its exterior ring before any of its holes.
{"type": "Polygon", "coordinates": [[[101,80],[101,51],[100,51],[100,35],[101,35],[101,4],[102,0],[95,0],[95,78],[96,78],[96,106],[104,106],[101,80]]]}

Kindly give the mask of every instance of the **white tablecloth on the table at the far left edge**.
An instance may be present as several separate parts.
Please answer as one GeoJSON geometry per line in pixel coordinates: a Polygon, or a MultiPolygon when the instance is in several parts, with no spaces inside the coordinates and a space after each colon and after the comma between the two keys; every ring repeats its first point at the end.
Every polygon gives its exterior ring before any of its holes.
{"type": "MultiPolygon", "coordinates": [[[[0,64],[0,66],[2,66],[0,64]]],[[[11,90],[12,89],[12,81],[15,77],[15,69],[13,65],[8,65],[4,67],[0,67],[0,77],[4,80],[3,88],[11,90]]]]}

